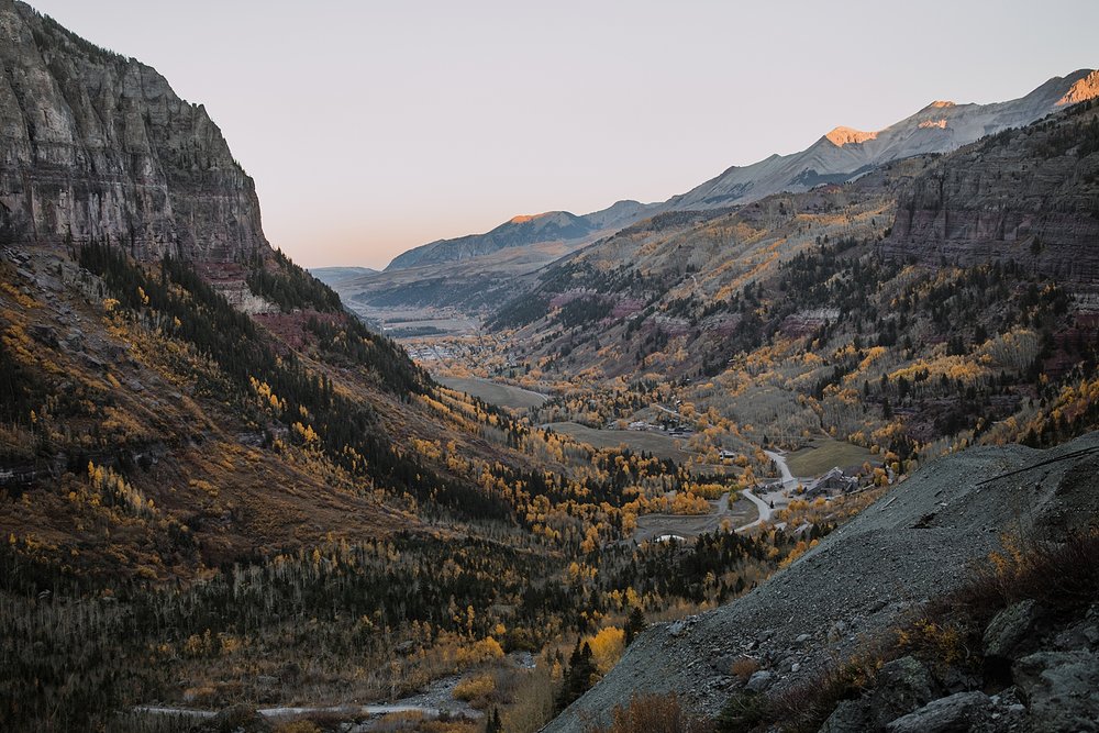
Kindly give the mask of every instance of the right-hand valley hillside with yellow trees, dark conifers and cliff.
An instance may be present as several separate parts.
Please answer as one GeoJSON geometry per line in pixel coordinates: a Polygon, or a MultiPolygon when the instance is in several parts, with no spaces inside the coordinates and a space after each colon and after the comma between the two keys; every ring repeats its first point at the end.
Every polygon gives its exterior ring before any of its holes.
{"type": "Polygon", "coordinates": [[[674,406],[711,459],[835,438],[903,469],[1078,435],[1096,424],[1096,116],[1085,102],[853,182],[654,216],[543,270],[443,368],[548,392],[544,422],[674,406]]]}

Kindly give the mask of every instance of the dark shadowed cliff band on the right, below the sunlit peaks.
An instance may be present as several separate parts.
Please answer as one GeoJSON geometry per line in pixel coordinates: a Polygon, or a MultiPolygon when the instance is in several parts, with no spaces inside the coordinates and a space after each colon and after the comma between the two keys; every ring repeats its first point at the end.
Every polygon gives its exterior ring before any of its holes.
{"type": "Polygon", "coordinates": [[[1003,132],[943,158],[898,201],[889,258],[1014,260],[1099,285],[1099,104],[1003,132]]]}

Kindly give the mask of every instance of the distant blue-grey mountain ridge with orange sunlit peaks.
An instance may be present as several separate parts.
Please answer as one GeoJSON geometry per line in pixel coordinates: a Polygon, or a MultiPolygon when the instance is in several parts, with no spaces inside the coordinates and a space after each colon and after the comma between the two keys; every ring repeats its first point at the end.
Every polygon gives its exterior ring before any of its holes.
{"type": "MultiPolygon", "coordinates": [[[[811,146],[771,155],[748,166],[733,166],[704,184],[663,203],[619,201],[590,214],[567,211],[515,216],[485,234],[439,240],[398,256],[387,273],[489,255],[510,247],[563,243],[568,249],[590,243],[637,221],[668,211],[721,209],[780,191],[806,191],[837,184],[877,166],[928,153],[946,153],[985,135],[1029,124],[1051,112],[1099,95],[1099,73],[1080,69],[1054,77],[1025,97],[992,104],[935,101],[885,130],[835,127],[811,146]]],[[[431,277],[437,277],[432,273],[431,277]]]]}

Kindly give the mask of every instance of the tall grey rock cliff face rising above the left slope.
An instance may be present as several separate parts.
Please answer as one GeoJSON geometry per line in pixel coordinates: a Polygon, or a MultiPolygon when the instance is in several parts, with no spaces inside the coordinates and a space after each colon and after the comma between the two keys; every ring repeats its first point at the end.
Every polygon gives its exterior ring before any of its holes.
{"type": "Polygon", "coordinates": [[[225,263],[266,252],[255,185],[155,69],[0,0],[0,238],[225,263]]]}

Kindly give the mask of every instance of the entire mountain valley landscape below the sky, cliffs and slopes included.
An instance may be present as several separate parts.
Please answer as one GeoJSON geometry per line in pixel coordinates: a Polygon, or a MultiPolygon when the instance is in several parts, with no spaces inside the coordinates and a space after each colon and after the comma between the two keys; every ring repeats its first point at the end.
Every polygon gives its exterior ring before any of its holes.
{"type": "Polygon", "coordinates": [[[1094,722],[1099,73],[307,271],[0,40],[0,728],[1094,722]]]}

